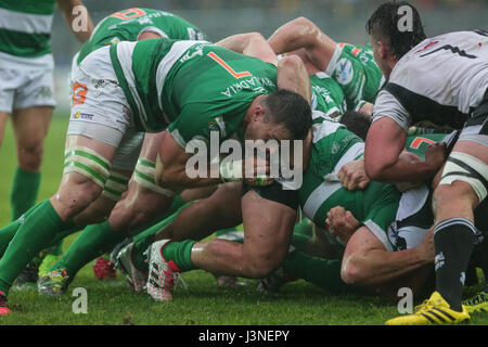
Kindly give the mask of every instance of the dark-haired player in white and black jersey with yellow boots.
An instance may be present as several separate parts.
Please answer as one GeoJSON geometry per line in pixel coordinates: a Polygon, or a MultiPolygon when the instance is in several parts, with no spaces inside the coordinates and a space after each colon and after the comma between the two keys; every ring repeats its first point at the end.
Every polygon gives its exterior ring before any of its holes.
{"type": "Polygon", "coordinates": [[[486,198],[488,187],[488,33],[426,39],[418,11],[407,2],[378,7],[367,29],[387,80],[367,138],[368,176],[383,182],[433,177],[442,160],[428,150],[425,162],[400,154],[409,126],[429,121],[462,129],[433,197],[436,291],[413,314],[387,324],[459,323],[470,319],[461,304],[462,287],[476,240],[473,211],[486,198]],[[410,7],[412,30],[400,31],[400,7],[410,7]]]}

